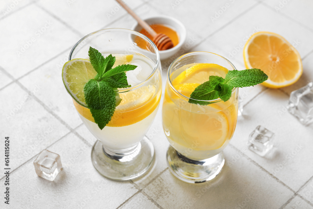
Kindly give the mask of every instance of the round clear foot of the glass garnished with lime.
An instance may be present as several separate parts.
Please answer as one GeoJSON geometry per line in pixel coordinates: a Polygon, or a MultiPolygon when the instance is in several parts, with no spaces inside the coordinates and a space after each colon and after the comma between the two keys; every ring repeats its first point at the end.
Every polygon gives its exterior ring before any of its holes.
{"type": "Polygon", "coordinates": [[[95,169],[109,179],[130,180],[149,170],[154,162],[154,148],[143,138],[131,152],[121,154],[109,151],[98,140],[92,147],[91,161],[95,169]]]}

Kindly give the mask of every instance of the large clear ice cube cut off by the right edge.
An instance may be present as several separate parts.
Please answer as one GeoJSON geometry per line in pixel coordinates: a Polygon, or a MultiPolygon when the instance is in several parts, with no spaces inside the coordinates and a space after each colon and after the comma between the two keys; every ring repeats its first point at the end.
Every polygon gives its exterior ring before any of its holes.
{"type": "Polygon", "coordinates": [[[291,92],[287,109],[300,123],[313,122],[313,82],[291,92]]]}

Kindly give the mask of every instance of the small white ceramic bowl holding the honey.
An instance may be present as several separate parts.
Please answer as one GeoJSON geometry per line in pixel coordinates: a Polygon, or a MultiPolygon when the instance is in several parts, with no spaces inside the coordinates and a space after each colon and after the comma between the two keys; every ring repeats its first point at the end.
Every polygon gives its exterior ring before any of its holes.
{"type": "MultiPolygon", "coordinates": [[[[144,21],[146,21],[149,25],[151,24],[165,25],[175,30],[178,34],[179,43],[176,46],[168,50],[162,50],[162,51],[159,50],[161,60],[165,60],[171,57],[172,55],[174,55],[175,53],[177,53],[178,50],[181,48],[182,44],[186,40],[186,35],[187,35],[186,28],[180,21],[178,21],[175,18],[168,17],[168,16],[157,16],[157,17],[146,18],[144,19],[144,21]]],[[[142,27],[138,23],[136,23],[135,25],[133,25],[131,29],[139,32],[141,31],[142,27]]]]}

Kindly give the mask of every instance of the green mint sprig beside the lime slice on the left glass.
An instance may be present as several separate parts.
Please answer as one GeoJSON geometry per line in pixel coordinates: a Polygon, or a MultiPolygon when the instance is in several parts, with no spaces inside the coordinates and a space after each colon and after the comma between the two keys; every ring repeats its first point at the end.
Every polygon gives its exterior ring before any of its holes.
{"type": "Polygon", "coordinates": [[[92,47],[89,48],[88,55],[98,74],[84,86],[85,101],[95,123],[102,130],[111,120],[115,107],[121,102],[117,89],[130,87],[125,71],[134,70],[137,66],[119,65],[112,69],[115,57],[109,55],[104,58],[92,47]]]}

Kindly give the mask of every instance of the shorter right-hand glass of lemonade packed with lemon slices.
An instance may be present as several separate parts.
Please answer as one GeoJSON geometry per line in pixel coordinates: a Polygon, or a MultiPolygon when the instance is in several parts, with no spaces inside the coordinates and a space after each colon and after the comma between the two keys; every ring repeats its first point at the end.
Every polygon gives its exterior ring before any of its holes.
{"type": "Polygon", "coordinates": [[[179,179],[200,183],[212,180],[222,170],[222,150],[233,136],[237,122],[238,88],[230,99],[189,103],[192,91],[209,80],[225,77],[235,67],[224,57],[209,52],[191,52],[177,58],[167,71],[162,107],[163,129],[170,142],[167,163],[179,179]],[[199,105],[209,102],[208,105],[199,105]]]}

